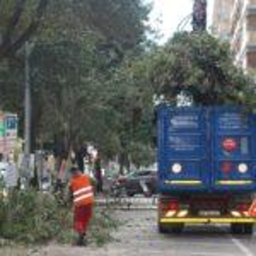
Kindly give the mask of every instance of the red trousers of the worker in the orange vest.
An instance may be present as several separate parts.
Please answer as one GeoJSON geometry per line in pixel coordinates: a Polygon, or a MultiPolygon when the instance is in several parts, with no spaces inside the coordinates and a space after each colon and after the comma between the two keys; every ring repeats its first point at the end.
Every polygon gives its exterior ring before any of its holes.
{"type": "Polygon", "coordinates": [[[92,218],[92,204],[75,206],[74,230],[78,234],[85,235],[91,218],[92,218]]]}

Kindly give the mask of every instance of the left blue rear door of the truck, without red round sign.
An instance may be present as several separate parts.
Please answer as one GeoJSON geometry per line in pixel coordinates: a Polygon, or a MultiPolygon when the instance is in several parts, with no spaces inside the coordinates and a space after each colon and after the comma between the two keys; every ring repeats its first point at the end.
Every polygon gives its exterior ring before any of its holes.
{"type": "Polygon", "coordinates": [[[210,147],[204,108],[163,108],[158,116],[160,189],[209,185],[210,147]]]}

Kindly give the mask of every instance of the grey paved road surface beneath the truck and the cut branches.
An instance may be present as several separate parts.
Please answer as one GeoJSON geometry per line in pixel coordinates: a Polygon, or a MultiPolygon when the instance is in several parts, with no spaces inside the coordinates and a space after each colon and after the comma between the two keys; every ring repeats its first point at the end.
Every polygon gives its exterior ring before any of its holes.
{"type": "Polygon", "coordinates": [[[48,245],[37,250],[1,251],[0,255],[44,256],[252,256],[256,255],[256,234],[232,236],[228,226],[190,226],[183,233],[158,234],[156,210],[124,210],[116,212],[123,225],[113,234],[114,241],[97,248],[48,245]],[[2,253],[1,253],[2,252],[2,253]],[[4,253],[4,254],[3,254],[4,253]]]}

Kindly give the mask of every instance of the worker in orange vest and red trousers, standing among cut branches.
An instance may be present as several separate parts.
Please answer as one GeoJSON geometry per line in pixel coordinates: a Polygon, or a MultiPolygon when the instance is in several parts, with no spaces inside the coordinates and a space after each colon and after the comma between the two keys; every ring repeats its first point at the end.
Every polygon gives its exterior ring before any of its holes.
{"type": "Polygon", "coordinates": [[[69,190],[74,205],[74,230],[78,233],[76,244],[86,245],[86,231],[92,218],[94,202],[90,177],[78,167],[72,167],[69,190]]]}

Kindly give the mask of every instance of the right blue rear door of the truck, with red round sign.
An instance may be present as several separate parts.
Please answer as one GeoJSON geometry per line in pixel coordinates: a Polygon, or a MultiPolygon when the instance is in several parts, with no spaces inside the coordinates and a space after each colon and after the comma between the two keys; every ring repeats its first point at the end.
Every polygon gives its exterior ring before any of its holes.
{"type": "Polygon", "coordinates": [[[250,190],[255,179],[255,118],[236,108],[212,114],[212,185],[217,190],[250,190]]]}

